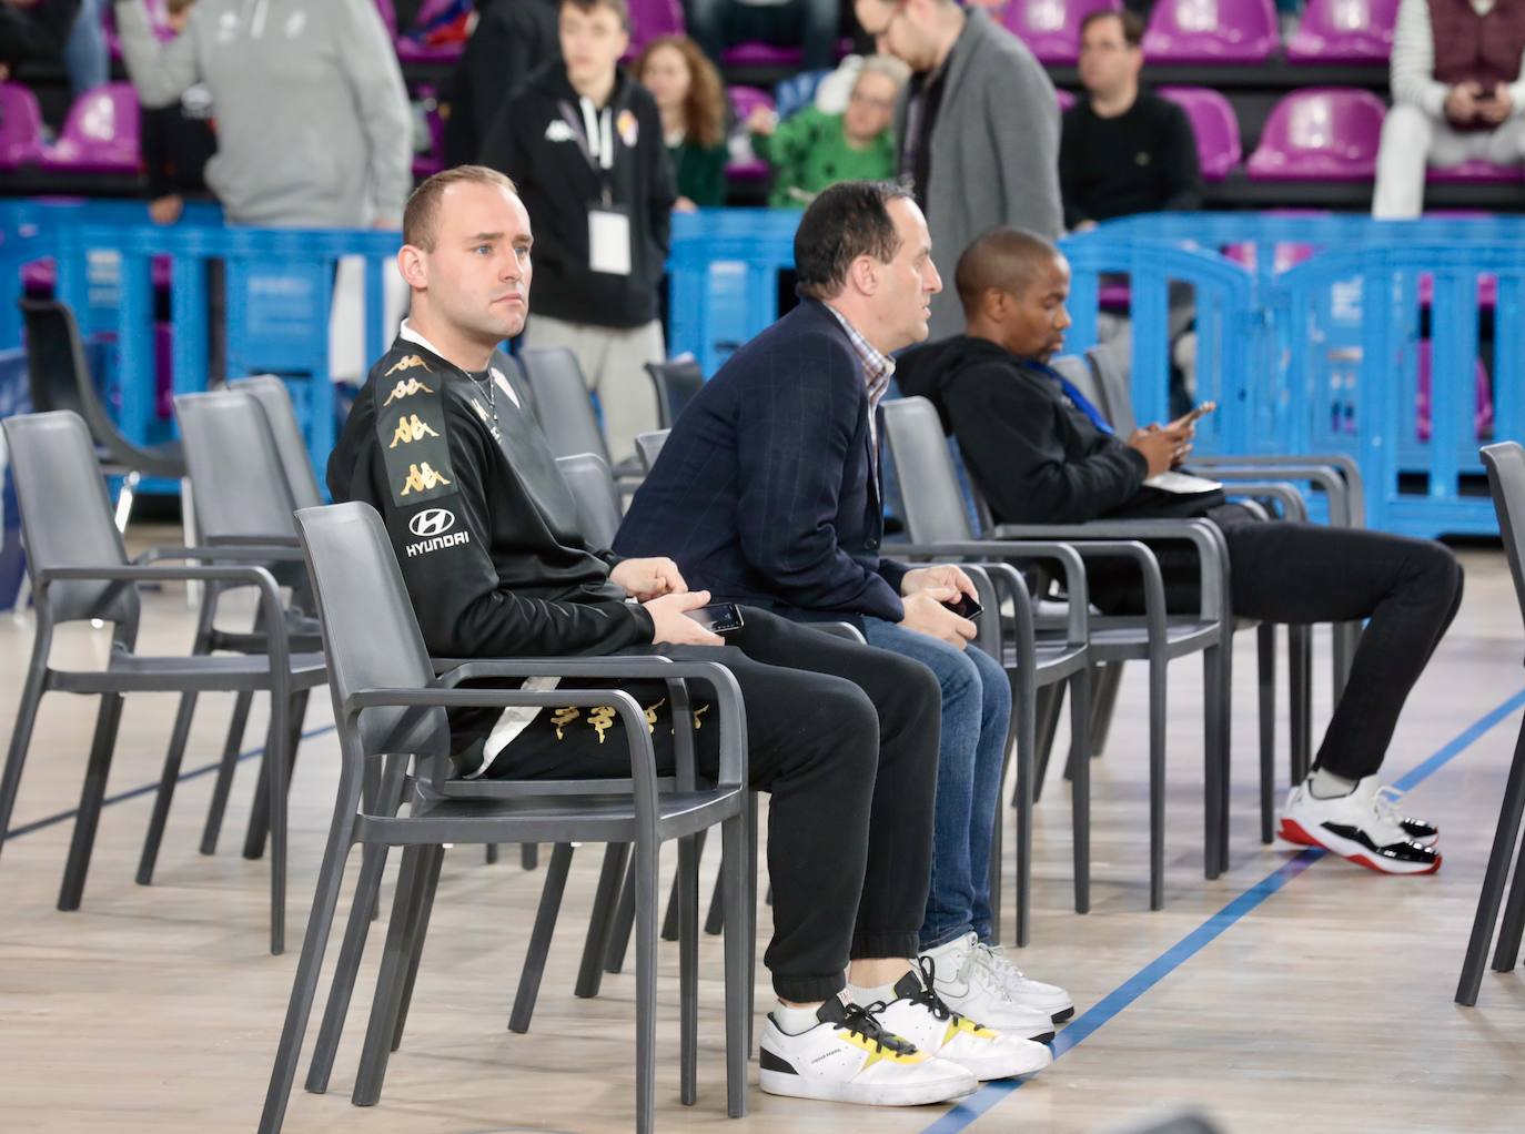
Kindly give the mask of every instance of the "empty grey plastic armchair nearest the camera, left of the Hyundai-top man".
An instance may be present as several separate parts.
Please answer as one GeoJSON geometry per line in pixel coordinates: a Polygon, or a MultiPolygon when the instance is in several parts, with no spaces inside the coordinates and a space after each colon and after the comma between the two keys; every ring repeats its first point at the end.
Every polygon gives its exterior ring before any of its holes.
{"type": "MultiPolygon", "coordinates": [[[[727,910],[727,927],[732,931],[726,934],[727,1110],[734,1117],[744,1114],[752,921],[740,901],[746,893],[741,870],[747,861],[747,771],[746,716],[735,678],[723,666],[673,663],[659,657],[473,662],[435,677],[396,559],[375,511],[360,503],[303,509],[297,515],[297,527],[323,623],[342,765],[317,892],[259,1122],[261,1134],[276,1134],[285,1116],[351,847],[357,843],[368,849],[407,847],[354,1091],[357,1105],[371,1105],[380,1097],[387,1055],[401,1038],[444,846],[520,841],[557,843],[558,849],[572,841],[628,843],[634,847],[639,887],[634,1125],[642,1134],[651,1131],[657,857],[662,843],[679,840],[679,869],[694,883],[688,889],[685,921],[694,927],[698,913],[697,873],[685,860],[691,854],[691,838],[717,823],[724,840],[721,869],[730,879],[727,893],[737,896],[727,910]],[[698,790],[689,782],[663,791],[656,776],[645,715],[634,698],[619,687],[544,692],[459,687],[468,681],[518,680],[531,675],[598,678],[612,686],[630,680],[668,681],[669,689],[680,687],[685,681],[709,686],[720,715],[720,783],[698,790]],[[566,704],[615,706],[625,726],[628,780],[598,780],[589,785],[448,779],[445,709],[566,704]],[[404,779],[404,758],[409,756],[416,761],[416,776],[404,779]],[[383,758],[389,759],[380,805],[366,808],[361,803],[364,767],[383,758]],[[396,814],[396,803],[403,799],[409,802],[406,817],[396,814]]],[[[688,773],[692,773],[691,761],[688,773]]],[[[364,927],[369,924],[369,895],[380,886],[383,866],[381,854],[368,854],[363,860],[329,1001],[329,1017],[337,1012],[339,1020],[348,1007],[364,927]]],[[[564,883],[564,875],[561,881],[564,883]]],[[[547,895],[549,892],[547,884],[547,895]]],[[[560,899],[560,890],[555,898],[560,899]]],[[[526,963],[526,969],[537,969],[537,979],[547,950],[549,937],[541,939],[537,922],[526,963]]],[[[692,1102],[695,1094],[697,963],[697,933],[691,931],[680,959],[685,1104],[692,1102]]],[[[328,1023],[325,1018],[325,1032],[328,1023]]],[[[320,1059],[331,1064],[337,1040],[337,1029],[326,1036],[320,1035],[314,1070],[320,1059]],[[328,1044],[331,1047],[325,1050],[328,1044]]],[[[322,1084],[326,1084],[326,1064],[322,1084]]]]}

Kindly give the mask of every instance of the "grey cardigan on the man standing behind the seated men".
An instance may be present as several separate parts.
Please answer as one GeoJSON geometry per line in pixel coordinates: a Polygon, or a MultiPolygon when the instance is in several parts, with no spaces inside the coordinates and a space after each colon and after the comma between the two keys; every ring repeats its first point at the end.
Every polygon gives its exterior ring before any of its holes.
{"type": "MultiPolygon", "coordinates": [[[[953,267],[974,238],[1000,224],[1051,239],[1063,232],[1058,194],[1058,99],[1048,73],[1017,37],[968,9],[944,62],[942,105],[932,127],[927,227],[942,293],[932,299],[932,337],[964,331],[953,267]]],[[[895,111],[904,152],[907,96],[895,111]]],[[[901,174],[910,171],[904,166],[901,174]]]]}

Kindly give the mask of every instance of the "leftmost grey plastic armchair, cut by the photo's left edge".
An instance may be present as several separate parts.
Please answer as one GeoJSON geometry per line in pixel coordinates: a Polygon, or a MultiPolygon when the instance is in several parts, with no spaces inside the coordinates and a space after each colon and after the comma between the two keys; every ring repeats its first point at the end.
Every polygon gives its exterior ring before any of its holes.
{"type": "MultiPolygon", "coordinates": [[[[165,547],[128,561],[122,537],[111,523],[90,433],[79,416],[67,412],[34,413],[6,419],[5,430],[17,498],[21,503],[27,573],[37,604],[37,637],[5,776],[0,779],[0,832],[11,825],[21,767],[43,694],[50,689],[99,694],[101,712],[58,898],[59,910],[76,910],[116,745],[122,695],[268,692],[270,735],[261,771],[270,780],[273,797],[284,802],[290,745],[288,707],[293,695],[323,683],[323,658],[290,651],[276,581],[264,567],[250,564],[252,552],[258,549],[165,547]],[[185,561],[185,565],[166,565],[168,559],[185,561]],[[223,564],[214,565],[217,561],[223,564]],[[268,652],[264,657],[148,657],[134,652],[140,614],[136,584],[169,581],[255,587],[270,628],[268,652]],[[53,626],[81,619],[101,619],[113,625],[107,668],[88,672],[53,669],[47,663],[53,626]]],[[[270,832],[270,951],[281,953],[285,942],[284,805],[271,808],[270,832]]]]}

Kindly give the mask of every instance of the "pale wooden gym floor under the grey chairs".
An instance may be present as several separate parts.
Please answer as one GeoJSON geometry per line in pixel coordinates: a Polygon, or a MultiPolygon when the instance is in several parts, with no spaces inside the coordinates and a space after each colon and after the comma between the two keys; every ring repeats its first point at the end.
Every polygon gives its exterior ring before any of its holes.
{"type": "MultiPolygon", "coordinates": [[[[1078,1007],[1060,1032],[1061,1058],[1052,1068],[1016,1091],[987,1088],[952,1110],[869,1111],[773,1099],[753,1087],[749,1117],[732,1123],[724,1114],[720,948],[706,937],[700,1097],[692,1108],[677,1102],[676,948],[663,945],[660,954],[659,1128],[1106,1131],[1193,1105],[1235,1134],[1525,1131],[1525,975],[1490,972],[1476,1009],[1452,1003],[1525,706],[1520,620],[1504,558],[1470,550],[1464,561],[1466,605],[1409,703],[1386,768],[1391,780],[1409,774],[1411,811],[1443,828],[1446,864],[1437,876],[1385,878],[1312,852],[1260,846],[1254,654],[1252,639],[1241,636],[1232,869],[1215,883],[1202,878],[1202,680],[1188,660],[1171,675],[1167,907],[1150,913],[1144,686],[1133,668],[1109,750],[1093,765],[1089,916],[1069,905],[1069,806],[1057,773],[1037,808],[1032,945],[1019,963],[1068,986],[1078,1007]]],[[[244,614],[235,608],[230,617],[244,614]]],[[[191,633],[178,590],[149,596],[145,645],[185,649],[191,633]]],[[[56,657],[88,665],[101,658],[104,642],[104,634],[75,626],[61,636],[56,657]]],[[[1316,643],[1315,721],[1322,729],[1327,640],[1316,636],[1316,643]]],[[[0,619],[6,739],[29,648],[29,622],[0,619]]],[[[204,700],[188,771],[215,759],[227,707],[226,697],[204,700]]],[[[111,770],[113,797],[127,797],[102,814],[82,910],[55,911],[93,712],[93,703],[66,695],[44,700],[15,834],[0,858],[0,1129],[252,1131],[332,808],[337,745],[326,694],[313,698],[291,796],[284,957],[265,953],[267,867],[238,855],[253,761],[241,765],[218,855],[195,849],[212,779],[192,776],[175,796],[156,886],[133,884],[148,785],[157,780],[174,712],[168,697],[128,700],[111,770]]],[[[249,747],[259,744],[256,735],[252,729],[249,747]]],[[[1284,730],[1278,739],[1284,751],[1284,730]]],[[[1278,765],[1284,776],[1284,756],[1278,765]]],[[[1010,863],[1011,811],[1003,817],[1010,863]]],[[[494,867],[476,850],[447,860],[407,1038],[392,1058],[381,1104],[357,1110],[348,1099],[374,979],[368,963],[332,1087],[326,1096],[307,1094],[299,1078],[285,1129],[628,1129],[633,980],[627,971],[607,977],[596,1000],[572,997],[599,858],[590,847],[573,861],[525,1036],[509,1033],[506,1020],[543,872],[525,873],[512,850],[494,867]]],[[[671,861],[669,852],[669,869],[671,861]]],[[[708,896],[714,858],[706,867],[708,896]]],[[[1010,899],[1006,915],[1010,925],[1010,899]]],[[[766,910],[762,922],[766,939],[766,910]]],[[[329,948],[329,963],[336,951],[329,948]]],[[[375,948],[368,962],[374,959],[375,948]]],[[[770,994],[758,975],[761,1011],[770,994]]]]}

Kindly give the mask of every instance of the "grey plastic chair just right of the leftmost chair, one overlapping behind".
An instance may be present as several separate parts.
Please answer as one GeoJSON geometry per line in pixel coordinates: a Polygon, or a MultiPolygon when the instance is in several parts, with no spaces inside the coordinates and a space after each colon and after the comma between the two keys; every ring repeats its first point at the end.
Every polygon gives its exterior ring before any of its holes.
{"type": "MultiPolygon", "coordinates": [[[[290,410],[290,404],[287,408],[290,410]]],[[[194,489],[191,498],[201,540],[214,547],[220,544],[259,547],[261,565],[270,570],[276,582],[293,591],[293,604],[284,611],[291,648],[320,652],[317,619],[308,613],[311,597],[296,538],[296,521],[293,520],[296,505],[288,482],[288,466],[278,451],[268,415],[252,392],[215,390],[177,396],[175,418],[185,439],[186,465],[194,489]]],[[[311,480],[311,474],[308,474],[308,480],[311,480]]],[[[253,628],[247,633],[229,633],[215,626],[218,604],[229,590],[220,585],[204,588],[192,645],[194,654],[265,652],[267,639],[261,617],[256,617],[253,628]]],[[[233,700],[227,741],[223,745],[217,780],[212,786],[212,803],[207,808],[206,826],[201,832],[201,854],[204,855],[217,850],[217,838],[238,768],[238,750],[252,701],[250,694],[241,694],[233,700]]],[[[145,886],[152,876],[154,855],[163,831],[163,815],[169,808],[169,794],[174,791],[185,738],[189,735],[194,713],[195,694],[186,694],[180,698],[180,709],[175,715],[175,742],[171,744],[165,759],[165,776],[160,780],[154,808],[156,823],[149,828],[149,838],[139,866],[139,881],[145,886]]],[[[307,694],[300,692],[291,703],[293,741],[288,753],[291,761],[296,759],[296,745],[302,735],[305,713],[307,694]]],[[[290,776],[287,783],[290,783],[290,776]]],[[[267,828],[268,783],[261,776],[249,818],[249,832],[244,837],[246,858],[259,858],[264,854],[267,828]]]]}

